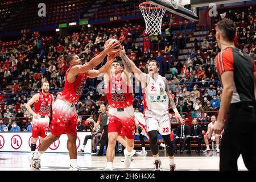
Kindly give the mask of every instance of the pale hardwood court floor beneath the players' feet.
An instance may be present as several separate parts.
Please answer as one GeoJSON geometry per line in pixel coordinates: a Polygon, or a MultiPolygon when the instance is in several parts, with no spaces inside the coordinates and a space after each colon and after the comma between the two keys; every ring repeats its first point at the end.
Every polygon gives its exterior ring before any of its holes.
{"type": "MultiPolygon", "coordinates": [[[[30,171],[28,163],[28,152],[0,152],[0,171],[30,171]]],[[[177,171],[216,171],[218,170],[219,154],[210,151],[207,154],[176,154],[175,163],[177,171]]],[[[152,171],[153,158],[148,151],[147,156],[134,155],[129,169],[124,167],[121,160],[122,155],[115,156],[114,170],[152,171]]],[[[169,170],[169,160],[166,151],[159,151],[159,158],[162,162],[162,169],[169,170]]],[[[45,153],[41,158],[42,171],[66,171],[69,169],[69,155],[60,153],[45,153]]],[[[91,156],[90,154],[77,155],[77,161],[82,171],[104,170],[106,156],[91,156]]],[[[242,157],[238,159],[238,169],[247,170],[243,164],[242,157]]]]}

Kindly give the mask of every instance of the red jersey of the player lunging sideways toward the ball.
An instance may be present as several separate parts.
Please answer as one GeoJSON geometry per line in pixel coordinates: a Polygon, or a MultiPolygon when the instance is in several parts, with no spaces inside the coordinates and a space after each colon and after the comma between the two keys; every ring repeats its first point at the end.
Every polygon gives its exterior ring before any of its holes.
{"type": "Polygon", "coordinates": [[[71,104],[77,104],[77,101],[82,95],[82,92],[84,92],[84,86],[86,83],[86,77],[87,73],[80,73],[79,76],[77,76],[76,80],[71,83],[68,82],[68,72],[71,68],[69,68],[65,74],[65,86],[63,92],[58,93],[57,99],[65,100],[70,102],[71,104]]]}

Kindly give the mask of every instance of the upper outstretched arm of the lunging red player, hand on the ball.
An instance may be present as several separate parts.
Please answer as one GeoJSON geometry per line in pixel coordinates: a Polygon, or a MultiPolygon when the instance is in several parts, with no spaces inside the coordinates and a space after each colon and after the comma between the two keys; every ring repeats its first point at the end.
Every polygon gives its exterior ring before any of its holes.
{"type": "Polygon", "coordinates": [[[85,63],[83,65],[76,65],[75,67],[72,67],[69,73],[73,75],[77,75],[79,73],[88,72],[90,69],[100,64],[101,61],[104,60],[104,58],[110,51],[112,51],[113,49],[117,49],[118,47],[119,47],[118,43],[108,44],[108,46],[104,49],[104,51],[102,51],[99,55],[93,57],[93,59],[90,60],[88,63],[85,63]]]}

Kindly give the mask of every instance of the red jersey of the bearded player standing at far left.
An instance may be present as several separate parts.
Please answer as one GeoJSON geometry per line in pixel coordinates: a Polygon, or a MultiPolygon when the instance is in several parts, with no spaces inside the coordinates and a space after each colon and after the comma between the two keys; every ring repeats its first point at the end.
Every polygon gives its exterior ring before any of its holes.
{"type": "Polygon", "coordinates": [[[52,101],[53,98],[50,93],[45,96],[43,92],[40,92],[38,102],[34,103],[35,113],[40,115],[51,115],[52,101]]]}

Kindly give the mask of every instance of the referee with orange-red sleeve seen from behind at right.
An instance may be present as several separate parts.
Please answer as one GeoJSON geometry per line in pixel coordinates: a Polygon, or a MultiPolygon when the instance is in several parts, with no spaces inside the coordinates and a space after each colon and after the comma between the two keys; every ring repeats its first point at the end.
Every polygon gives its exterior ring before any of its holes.
{"type": "Polygon", "coordinates": [[[223,92],[217,121],[213,126],[221,134],[220,170],[237,171],[242,154],[249,170],[256,170],[256,66],[247,53],[234,46],[236,24],[222,19],[217,24],[217,69],[223,92]],[[228,119],[224,121],[226,115],[228,119]]]}

